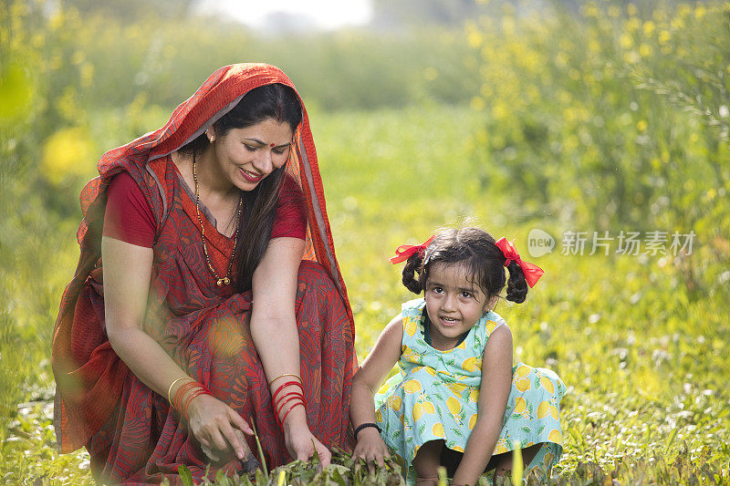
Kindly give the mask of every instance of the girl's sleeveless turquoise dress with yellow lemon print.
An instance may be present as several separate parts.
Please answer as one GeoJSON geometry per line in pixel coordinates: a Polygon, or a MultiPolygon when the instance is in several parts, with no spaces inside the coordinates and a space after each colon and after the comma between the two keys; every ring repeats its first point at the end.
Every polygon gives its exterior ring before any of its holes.
{"type": "MultiPolygon", "coordinates": [[[[381,436],[396,454],[409,482],[415,479],[412,460],[430,440],[445,440],[447,448],[464,452],[477,417],[486,340],[505,320],[493,311],[482,316],[458,346],[439,351],[426,343],[425,300],[402,305],[401,373],[375,395],[375,419],[381,436]]],[[[518,363],[512,368],[504,426],[494,454],[537,443],[543,447],[526,470],[551,467],[562,451],[560,400],[566,392],[553,371],[518,363]]]]}

